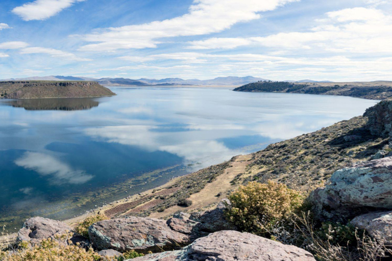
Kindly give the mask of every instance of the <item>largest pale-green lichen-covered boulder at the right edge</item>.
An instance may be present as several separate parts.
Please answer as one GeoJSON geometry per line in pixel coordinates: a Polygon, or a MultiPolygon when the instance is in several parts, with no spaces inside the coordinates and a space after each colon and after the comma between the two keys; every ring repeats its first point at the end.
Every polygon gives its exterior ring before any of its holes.
{"type": "Polygon", "coordinates": [[[392,157],[337,170],[330,181],[309,196],[318,218],[348,219],[392,208],[392,157]]]}

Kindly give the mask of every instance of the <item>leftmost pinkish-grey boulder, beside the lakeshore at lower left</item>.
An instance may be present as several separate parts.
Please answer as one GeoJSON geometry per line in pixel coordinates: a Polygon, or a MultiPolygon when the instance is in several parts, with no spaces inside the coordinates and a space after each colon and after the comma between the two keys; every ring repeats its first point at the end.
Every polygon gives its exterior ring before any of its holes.
{"type": "Polygon", "coordinates": [[[61,221],[41,217],[29,218],[19,230],[17,240],[27,241],[34,245],[43,239],[55,239],[56,236],[70,231],[72,228],[61,221]]]}

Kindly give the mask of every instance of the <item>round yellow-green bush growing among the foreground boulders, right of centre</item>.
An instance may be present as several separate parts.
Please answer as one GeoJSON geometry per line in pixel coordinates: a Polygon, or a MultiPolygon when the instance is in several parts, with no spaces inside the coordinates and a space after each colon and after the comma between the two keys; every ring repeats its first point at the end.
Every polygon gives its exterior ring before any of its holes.
{"type": "Polygon", "coordinates": [[[303,203],[300,192],[288,189],[284,184],[268,181],[261,184],[249,182],[229,196],[226,216],[240,230],[267,233],[276,223],[288,218],[303,203]]]}

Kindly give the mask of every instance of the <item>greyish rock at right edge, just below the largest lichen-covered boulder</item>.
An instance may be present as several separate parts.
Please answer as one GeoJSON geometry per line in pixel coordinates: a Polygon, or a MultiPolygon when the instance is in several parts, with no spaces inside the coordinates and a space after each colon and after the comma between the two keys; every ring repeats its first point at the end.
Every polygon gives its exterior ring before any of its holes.
{"type": "Polygon", "coordinates": [[[392,211],[375,212],[355,217],[352,225],[365,229],[371,236],[385,240],[384,244],[392,244],[392,211]]]}

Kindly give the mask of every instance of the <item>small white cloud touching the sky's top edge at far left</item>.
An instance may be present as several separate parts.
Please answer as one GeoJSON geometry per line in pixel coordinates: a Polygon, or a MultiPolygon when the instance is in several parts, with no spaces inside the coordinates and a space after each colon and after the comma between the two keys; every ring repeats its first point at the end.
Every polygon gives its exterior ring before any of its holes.
{"type": "Polygon", "coordinates": [[[36,0],[15,7],[12,12],[19,15],[25,21],[45,20],[58,14],[63,9],[82,1],[85,0],[36,0]]]}

